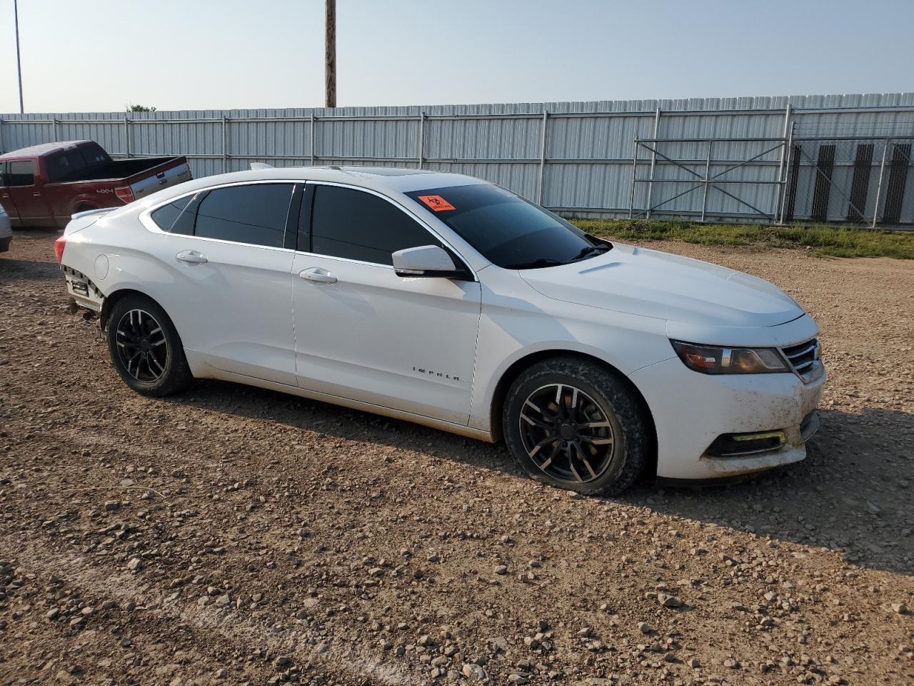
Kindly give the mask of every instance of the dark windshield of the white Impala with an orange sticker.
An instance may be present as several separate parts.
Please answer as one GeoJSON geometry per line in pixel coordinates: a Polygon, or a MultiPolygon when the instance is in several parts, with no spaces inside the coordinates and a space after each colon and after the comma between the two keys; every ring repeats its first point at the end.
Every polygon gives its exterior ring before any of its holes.
{"type": "Polygon", "coordinates": [[[497,186],[430,188],[406,195],[431,209],[489,262],[505,269],[567,264],[612,247],[497,186]]]}

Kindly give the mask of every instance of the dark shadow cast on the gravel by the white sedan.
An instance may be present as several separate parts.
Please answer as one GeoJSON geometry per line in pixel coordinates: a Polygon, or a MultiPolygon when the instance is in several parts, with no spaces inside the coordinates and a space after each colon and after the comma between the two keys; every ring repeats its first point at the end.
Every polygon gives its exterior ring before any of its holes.
{"type": "MultiPolygon", "coordinates": [[[[223,381],[200,381],[167,402],[268,419],[337,438],[423,452],[527,478],[502,444],[223,381]]],[[[821,411],[801,463],[739,483],[643,486],[604,501],[839,552],[848,563],[914,576],[914,414],[821,411]],[[907,437],[907,438],[906,438],[907,437]],[[906,444],[907,441],[907,444],[906,444]]]]}

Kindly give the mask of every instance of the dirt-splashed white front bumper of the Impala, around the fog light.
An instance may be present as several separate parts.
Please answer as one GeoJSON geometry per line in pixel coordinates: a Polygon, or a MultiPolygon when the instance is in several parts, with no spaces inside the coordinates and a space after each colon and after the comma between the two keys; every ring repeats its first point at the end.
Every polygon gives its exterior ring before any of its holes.
{"type": "Polygon", "coordinates": [[[796,374],[710,376],[678,358],[632,374],[642,391],[657,433],[657,477],[735,477],[799,462],[806,440],[818,428],[814,413],[822,399],[823,374],[804,383],[796,374]],[[746,456],[718,457],[708,446],[721,434],[781,430],[781,447],[746,456]]]}

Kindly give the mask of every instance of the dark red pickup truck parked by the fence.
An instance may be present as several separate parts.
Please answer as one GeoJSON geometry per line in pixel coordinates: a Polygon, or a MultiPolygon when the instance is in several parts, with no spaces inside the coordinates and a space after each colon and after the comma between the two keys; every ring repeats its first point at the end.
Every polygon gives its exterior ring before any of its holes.
{"type": "Polygon", "coordinates": [[[44,143],[0,155],[0,205],[14,227],[66,226],[191,178],[186,157],[112,160],[94,141],[44,143]]]}

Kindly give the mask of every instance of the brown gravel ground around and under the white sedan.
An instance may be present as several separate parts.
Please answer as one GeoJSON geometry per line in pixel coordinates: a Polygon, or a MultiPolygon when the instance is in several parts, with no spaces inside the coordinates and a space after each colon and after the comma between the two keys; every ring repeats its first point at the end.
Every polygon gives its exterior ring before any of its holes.
{"type": "Polygon", "coordinates": [[[0,256],[0,682],[914,683],[914,263],[653,243],[815,316],[823,428],[601,499],[270,391],[136,395],[54,236],[0,256]]]}

